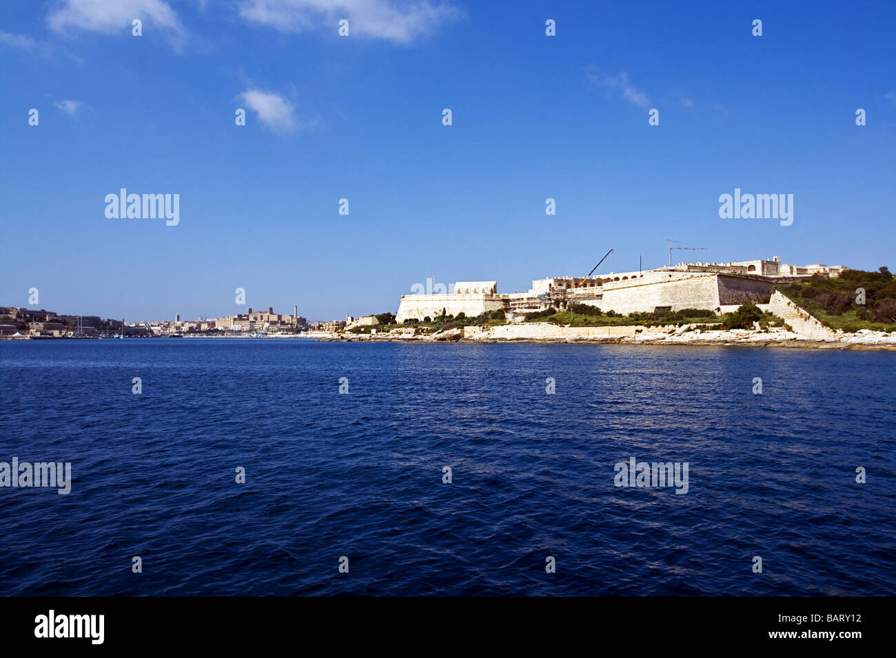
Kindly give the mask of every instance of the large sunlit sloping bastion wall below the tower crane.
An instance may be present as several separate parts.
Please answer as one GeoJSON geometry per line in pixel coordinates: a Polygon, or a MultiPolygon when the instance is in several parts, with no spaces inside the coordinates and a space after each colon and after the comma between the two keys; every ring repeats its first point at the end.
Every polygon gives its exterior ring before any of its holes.
{"type": "Polygon", "coordinates": [[[603,286],[600,308],[604,312],[652,312],[657,306],[671,306],[673,311],[685,308],[715,310],[719,306],[716,275],[698,274],[650,283],[635,279],[632,284],[625,281],[603,286]]]}

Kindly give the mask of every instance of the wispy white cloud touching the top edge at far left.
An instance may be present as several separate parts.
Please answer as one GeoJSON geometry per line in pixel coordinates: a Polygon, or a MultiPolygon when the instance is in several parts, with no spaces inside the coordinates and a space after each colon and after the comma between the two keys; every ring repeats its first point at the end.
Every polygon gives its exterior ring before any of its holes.
{"type": "Polygon", "coordinates": [[[131,21],[143,22],[168,33],[176,44],[185,38],[177,13],[165,0],[62,0],[47,17],[50,28],[65,32],[69,28],[106,34],[131,35],[131,21]]]}

